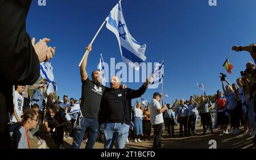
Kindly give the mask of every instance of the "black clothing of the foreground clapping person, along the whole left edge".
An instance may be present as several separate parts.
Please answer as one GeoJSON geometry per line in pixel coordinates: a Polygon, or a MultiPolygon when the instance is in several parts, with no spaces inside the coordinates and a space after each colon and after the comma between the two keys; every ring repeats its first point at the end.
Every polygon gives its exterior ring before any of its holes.
{"type": "Polygon", "coordinates": [[[40,75],[39,59],[26,32],[31,0],[0,0],[0,148],[9,142],[13,85],[32,85],[40,75]]]}

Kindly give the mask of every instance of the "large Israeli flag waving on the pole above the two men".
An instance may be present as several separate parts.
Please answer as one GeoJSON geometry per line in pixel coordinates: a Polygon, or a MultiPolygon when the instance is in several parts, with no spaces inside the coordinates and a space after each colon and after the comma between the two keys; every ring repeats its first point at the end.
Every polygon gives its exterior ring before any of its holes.
{"type": "Polygon", "coordinates": [[[106,28],[112,31],[117,37],[123,62],[139,70],[139,64],[146,61],[146,57],[144,56],[146,44],[138,43],[130,35],[125,18],[123,18],[121,1],[110,11],[106,22],[106,28]]]}

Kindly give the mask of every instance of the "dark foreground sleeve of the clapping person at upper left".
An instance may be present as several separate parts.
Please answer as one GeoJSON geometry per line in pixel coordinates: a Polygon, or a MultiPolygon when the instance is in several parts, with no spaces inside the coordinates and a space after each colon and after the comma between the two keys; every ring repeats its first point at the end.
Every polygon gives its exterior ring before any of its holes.
{"type": "Polygon", "coordinates": [[[0,0],[0,74],[13,85],[32,85],[40,75],[39,59],[26,32],[31,0],[0,0]]]}

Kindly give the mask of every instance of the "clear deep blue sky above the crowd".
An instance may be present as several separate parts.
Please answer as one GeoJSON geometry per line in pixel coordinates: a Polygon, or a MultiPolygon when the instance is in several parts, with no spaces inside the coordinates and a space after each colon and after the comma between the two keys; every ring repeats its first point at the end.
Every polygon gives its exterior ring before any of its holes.
{"type": "MultiPolygon", "coordinates": [[[[81,81],[78,64],[84,48],[118,0],[46,0],[47,6],[33,1],[27,17],[27,32],[37,40],[51,39],[56,47],[51,60],[57,94],[80,98],[81,81]]],[[[204,83],[207,94],[221,89],[219,73],[226,73],[222,64],[233,45],[256,43],[256,1],[217,0],[122,0],[122,10],[131,35],[146,43],[146,62],[164,60],[164,98],[171,103],[176,98],[188,99],[192,94],[203,94],[196,83],[204,83]]],[[[106,27],[93,44],[87,70],[97,68],[100,53],[109,64],[110,57],[121,61],[115,35],[106,27]]],[[[247,61],[247,52],[233,52],[234,65],[230,82],[235,82],[247,61]]],[[[115,70],[116,73],[118,70],[115,70]]],[[[106,84],[109,86],[109,83],[106,84]]],[[[138,89],[142,83],[126,83],[138,89]]],[[[158,89],[147,90],[144,99],[151,100],[158,89]]]]}

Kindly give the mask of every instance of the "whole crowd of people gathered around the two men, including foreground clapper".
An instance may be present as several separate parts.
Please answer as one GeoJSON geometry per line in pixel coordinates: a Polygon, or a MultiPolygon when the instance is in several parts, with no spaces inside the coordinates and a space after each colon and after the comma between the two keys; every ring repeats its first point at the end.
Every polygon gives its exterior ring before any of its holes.
{"type": "MultiPolygon", "coordinates": [[[[167,128],[170,137],[175,137],[174,126],[177,124],[180,127],[180,137],[183,133],[186,137],[191,136],[191,132],[196,135],[196,121],[199,116],[203,124],[203,134],[208,129],[213,134],[213,128],[219,127],[223,134],[228,134],[230,130],[232,134],[246,133],[247,136],[254,137],[255,142],[256,67],[253,62],[246,64],[246,70],[241,71],[241,76],[232,85],[221,74],[223,94],[220,90],[216,92],[214,105],[205,92],[200,102],[195,102],[191,97],[189,104],[180,99],[179,104],[176,105],[176,100],[172,106],[165,104],[162,94],[155,92],[150,104],[143,107],[142,103],[137,102],[132,107],[131,100],[146,92],[153,77],[148,77],[137,90],[121,84],[117,76],[113,76],[110,87],[106,87],[100,83],[99,70],[94,70],[91,74],[92,80],[89,79],[86,71],[89,54],[86,54],[80,66],[82,91],[78,102],[73,98],[68,100],[68,95],[63,96],[63,102],[59,98],[54,99],[53,93],[46,95],[43,82],[34,87],[29,100],[27,96],[23,96],[23,92],[26,95],[27,87],[31,87],[29,85],[34,85],[38,80],[40,62],[53,58],[56,49],[48,47],[49,39],[35,43],[35,39],[31,39],[26,33],[26,17],[23,15],[27,15],[30,4],[31,1],[3,1],[2,6],[11,7],[4,9],[1,6],[0,9],[0,13],[5,15],[20,10],[13,17],[16,23],[1,18],[1,22],[6,23],[1,23],[3,26],[0,27],[5,31],[0,36],[0,52],[7,53],[0,61],[0,73],[3,75],[0,87],[1,148],[31,148],[30,140],[43,128],[52,136],[58,148],[64,148],[64,136],[71,136],[72,148],[79,149],[88,130],[85,148],[92,149],[100,130],[105,149],[112,149],[113,146],[123,149],[129,141],[129,133],[134,142],[141,142],[146,138],[150,140],[153,128],[153,148],[157,149],[163,148],[163,126],[167,128]],[[210,110],[215,110],[216,113],[214,124],[210,110]],[[243,130],[240,130],[241,125],[243,130]]],[[[234,46],[232,49],[237,52],[250,52],[255,62],[256,45],[234,46]]],[[[86,50],[90,53],[92,46],[88,45],[86,50]]]]}

